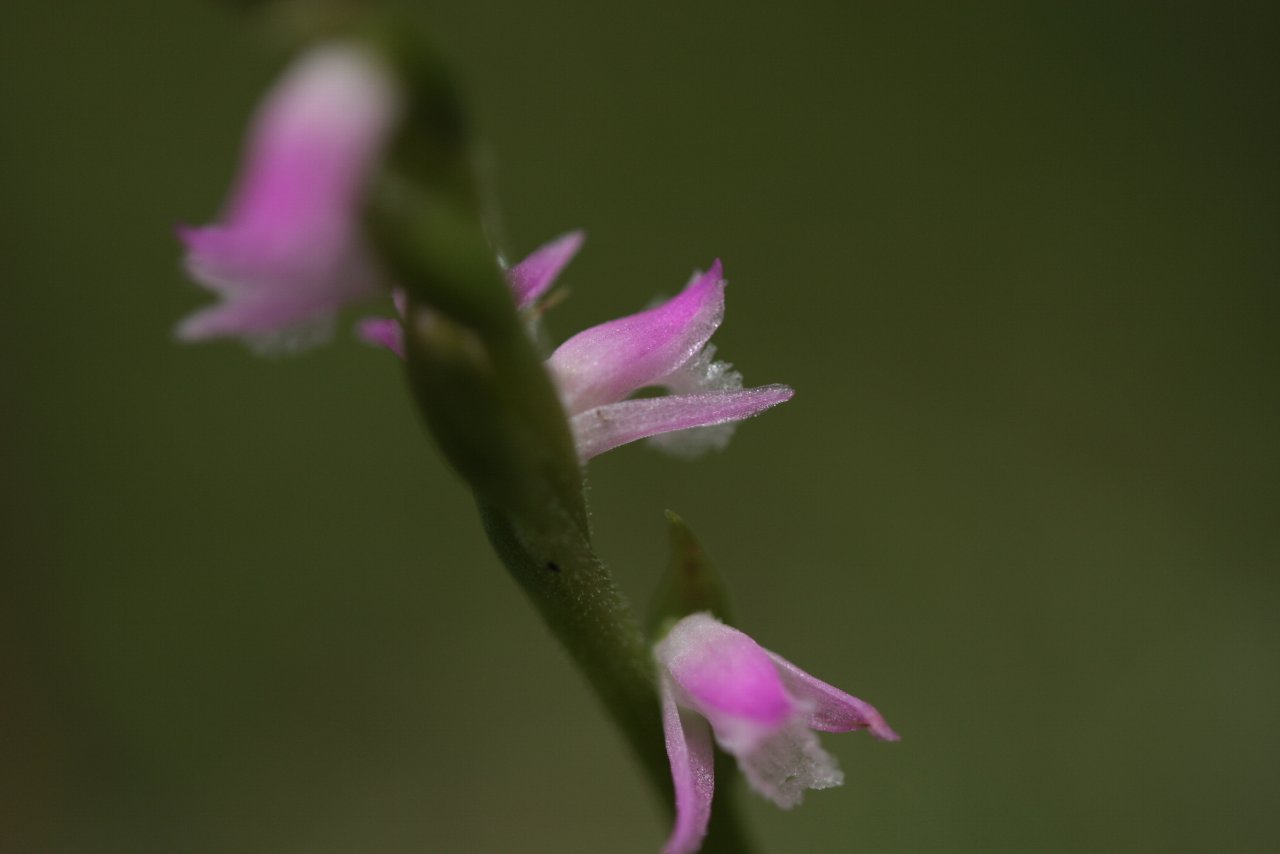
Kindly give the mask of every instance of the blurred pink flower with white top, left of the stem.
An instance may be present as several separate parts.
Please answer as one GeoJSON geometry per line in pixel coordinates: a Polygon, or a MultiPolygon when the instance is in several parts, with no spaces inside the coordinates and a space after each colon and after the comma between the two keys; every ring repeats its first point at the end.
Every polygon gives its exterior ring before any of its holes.
{"type": "Polygon", "coordinates": [[[180,339],[306,343],[378,291],[360,209],[397,105],[388,69],[358,47],[294,61],[259,108],[223,222],[178,230],[192,278],[223,298],[186,318],[180,339]]]}

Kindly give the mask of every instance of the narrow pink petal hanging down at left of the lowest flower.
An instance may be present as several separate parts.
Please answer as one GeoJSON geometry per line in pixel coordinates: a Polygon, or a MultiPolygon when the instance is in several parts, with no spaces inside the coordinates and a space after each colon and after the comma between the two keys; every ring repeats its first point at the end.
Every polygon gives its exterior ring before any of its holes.
{"type": "Polygon", "coordinates": [[[716,753],[707,721],[676,705],[671,681],[662,680],[662,729],[667,736],[671,780],[676,786],[676,825],[663,854],[701,848],[716,795],[716,753]]]}

